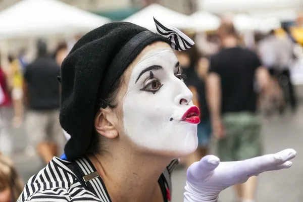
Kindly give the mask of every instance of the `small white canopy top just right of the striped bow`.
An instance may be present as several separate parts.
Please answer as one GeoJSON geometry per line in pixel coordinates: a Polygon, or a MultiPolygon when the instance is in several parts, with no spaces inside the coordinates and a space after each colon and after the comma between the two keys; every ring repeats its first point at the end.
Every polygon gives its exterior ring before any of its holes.
{"type": "Polygon", "coordinates": [[[220,26],[221,19],[209,12],[198,11],[192,14],[192,25],[196,31],[211,31],[216,30],[220,26]]]}

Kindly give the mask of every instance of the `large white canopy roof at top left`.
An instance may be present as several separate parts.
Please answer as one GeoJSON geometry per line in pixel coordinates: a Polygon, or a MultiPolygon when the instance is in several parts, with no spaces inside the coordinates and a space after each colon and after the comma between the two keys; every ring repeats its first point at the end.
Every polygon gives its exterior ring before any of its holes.
{"type": "Polygon", "coordinates": [[[87,32],[108,22],[57,0],[23,0],[0,12],[0,39],[87,32]]]}

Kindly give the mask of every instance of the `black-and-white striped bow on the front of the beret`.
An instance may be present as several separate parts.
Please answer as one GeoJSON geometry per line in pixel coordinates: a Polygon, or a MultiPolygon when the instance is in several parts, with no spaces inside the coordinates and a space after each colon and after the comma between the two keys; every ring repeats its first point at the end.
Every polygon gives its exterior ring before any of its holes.
{"type": "Polygon", "coordinates": [[[179,29],[159,22],[159,20],[157,20],[155,17],[154,21],[157,28],[157,34],[160,34],[167,38],[171,42],[173,49],[177,51],[184,51],[194,45],[193,40],[191,40],[179,29]]]}

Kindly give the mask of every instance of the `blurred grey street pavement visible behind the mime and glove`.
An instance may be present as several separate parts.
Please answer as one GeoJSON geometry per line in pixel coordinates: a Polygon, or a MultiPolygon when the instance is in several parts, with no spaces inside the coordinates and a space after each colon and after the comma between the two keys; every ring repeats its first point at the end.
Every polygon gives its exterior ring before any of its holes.
{"type": "MultiPolygon", "coordinates": [[[[290,169],[263,173],[259,176],[256,198],[258,202],[301,202],[303,201],[303,107],[295,115],[286,114],[284,117],[274,116],[263,118],[263,138],[265,154],[276,153],[284,148],[294,148],[297,157],[292,161],[290,169]]],[[[14,155],[17,170],[26,181],[42,167],[42,161],[35,154],[29,155],[25,149],[28,138],[24,127],[12,129],[14,155]]],[[[212,142],[212,151],[215,143],[212,142]]],[[[213,153],[214,154],[214,153],[213,153]]],[[[179,167],[172,175],[172,201],[183,201],[186,169],[179,167]]],[[[220,194],[220,202],[232,202],[233,189],[228,188],[220,194]]]]}

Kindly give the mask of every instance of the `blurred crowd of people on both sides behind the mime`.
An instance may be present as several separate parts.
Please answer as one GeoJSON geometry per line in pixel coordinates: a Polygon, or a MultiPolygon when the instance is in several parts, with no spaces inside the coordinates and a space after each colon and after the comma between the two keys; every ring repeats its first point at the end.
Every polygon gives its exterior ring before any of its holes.
{"type": "MultiPolygon", "coordinates": [[[[212,137],[218,140],[222,161],[261,155],[259,112],[283,116],[288,107],[293,113],[297,109],[290,67],[297,60],[293,50],[299,44],[286,27],[282,34],[277,30],[255,33],[254,42],[248,44],[228,19],[223,19],[215,32],[184,32],[196,45],[176,55],[193,103],[201,111],[201,122],[199,146],[181,163],[188,167],[209,154],[212,137]]],[[[34,148],[45,164],[62,154],[66,138],[58,119],[60,83],[56,77],[79,38],[58,42],[52,53],[40,39],[33,61],[26,60],[26,49],[22,49],[18,56],[9,56],[7,67],[0,68],[0,147],[4,153],[0,154],[0,201],[15,201],[22,190],[13,163],[5,156],[12,152],[10,125],[19,128],[24,124],[29,148],[34,148]]],[[[235,188],[239,201],[253,201],[256,178],[235,188]]]]}

